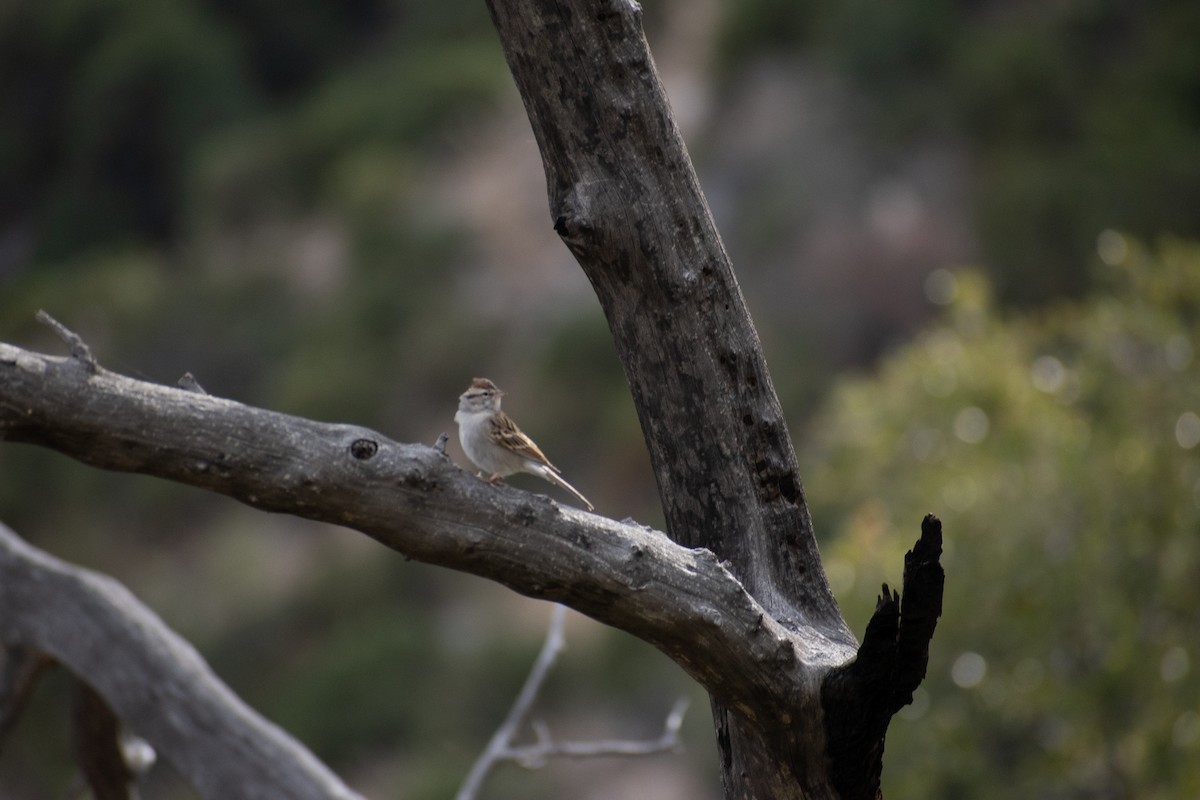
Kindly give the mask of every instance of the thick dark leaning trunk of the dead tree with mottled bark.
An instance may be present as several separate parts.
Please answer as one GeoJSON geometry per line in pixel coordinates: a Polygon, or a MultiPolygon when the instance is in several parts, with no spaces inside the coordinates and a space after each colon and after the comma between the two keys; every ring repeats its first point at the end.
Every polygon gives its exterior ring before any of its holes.
{"type": "MultiPolygon", "coordinates": [[[[810,682],[773,715],[748,716],[714,698],[726,796],[836,796],[851,787],[835,788],[842,764],[835,769],[829,753],[844,759],[847,747],[827,745],[826,733],[845,730],[826,724],[820,681],[853,658],[856,642],[821,569],[787,426],[658,79],[641,10],[632,0],[488,0],[488,7],[541,150],[554,230],[608,318],[667,533],[728,561],[804,643],[798,657],[810,682]]],[[[858,686],[839,682],[851,685],[858,686]]],[[[875,762],[893,711],[871,728],[875,762]]],[[[859,792],[870,796],[870,786],[859,792]]]]}

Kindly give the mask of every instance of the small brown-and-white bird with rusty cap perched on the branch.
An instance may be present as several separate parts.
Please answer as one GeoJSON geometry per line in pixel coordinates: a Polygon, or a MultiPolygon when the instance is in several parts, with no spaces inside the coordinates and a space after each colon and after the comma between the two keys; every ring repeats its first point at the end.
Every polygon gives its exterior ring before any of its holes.
{"type": "Polygon", "coordinates": [[[559,469],[550,463],[541,449],[517,427],[508,414],[500,410],[504,392],[487,378],[475,378],[458,397],[458,410],[454,421],[458,423],[458,441],[475,467],[491,473],[488,483],[496,483],[506,475],[528,473],[556,483],[594,511],[577,488],[568,483],[559,469]]]}

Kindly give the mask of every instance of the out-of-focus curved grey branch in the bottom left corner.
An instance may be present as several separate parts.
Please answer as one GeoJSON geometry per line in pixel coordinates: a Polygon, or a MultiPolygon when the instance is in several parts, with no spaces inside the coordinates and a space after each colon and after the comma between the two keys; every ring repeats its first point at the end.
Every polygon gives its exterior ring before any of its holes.
{"type": "MultiPolygon", "coordinates": [[[[8,643],[46,652],[84,678],[202,796],[359,798],[246,706],[122,585],[29,546],[2,524],[0,616],[8,643]]],[[[110,742],[113,720],[104,726],[110,742]]]]}

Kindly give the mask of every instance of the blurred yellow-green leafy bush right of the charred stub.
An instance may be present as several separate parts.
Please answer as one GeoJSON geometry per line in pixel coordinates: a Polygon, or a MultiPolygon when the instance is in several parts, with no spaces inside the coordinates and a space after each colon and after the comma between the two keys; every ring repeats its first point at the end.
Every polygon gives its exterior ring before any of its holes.
{"type": "Polygon", "coordinates": [[[944,523],[889,793],[1200,794],[1200,247],[1106,231],[1100,253],[1108,290],[1036,315],[958,273],[946,320],[840,384],[799,447],[854,630],[922,516],[944,523]]]}

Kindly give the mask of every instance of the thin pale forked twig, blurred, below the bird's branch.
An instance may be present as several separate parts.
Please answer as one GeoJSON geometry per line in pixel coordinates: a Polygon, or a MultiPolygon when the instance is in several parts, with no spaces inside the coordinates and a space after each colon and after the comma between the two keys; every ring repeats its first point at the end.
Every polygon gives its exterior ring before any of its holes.
{"type": "Polygon", "coordinates": [[[658,739],[644,741],[628,739],[554,741],[546,723],[535,720],[530,723],[530,727],[534,730],[536,741],[530,745],[512,744],[512,739],[529,714],[529,709],[533,706],[534,700],[538,699],[538,692],[541,691],[541,685],[545,682],[546,675],[550,674],[554,661],[557,661],[558,655],[566,645],[563,637],[565,620],[566,608],[564,606],[554,606],[554,610],[550,618],[550,627],[546,630],[546,640],[542,643],[541,651],[538,654],[538,658],[529,670],[529,676],[526,678],[524,686],[521,687],[516,700],[512,702],[512,708],[509,709],[504,722],[496,729],[496,733],[492,734],[491,740],[487,742],[487,747],[472,765],[470,772],[467,774],[467,778],[462,783],[462,788],[455,795],[455,800],[475,800],[480,788],[484,786],[484,781],[499,762],[516,762],[526,769],[538,769],[556,756],[568,758],[650,756],[682,750],[679,728],[683,724],[683,717],[688,711],[689,703],[685,697],[676,700],[674,708],[671,709],[671,714],[667,715],[666,722],[662,726],[662,735],[658,739]]]}

